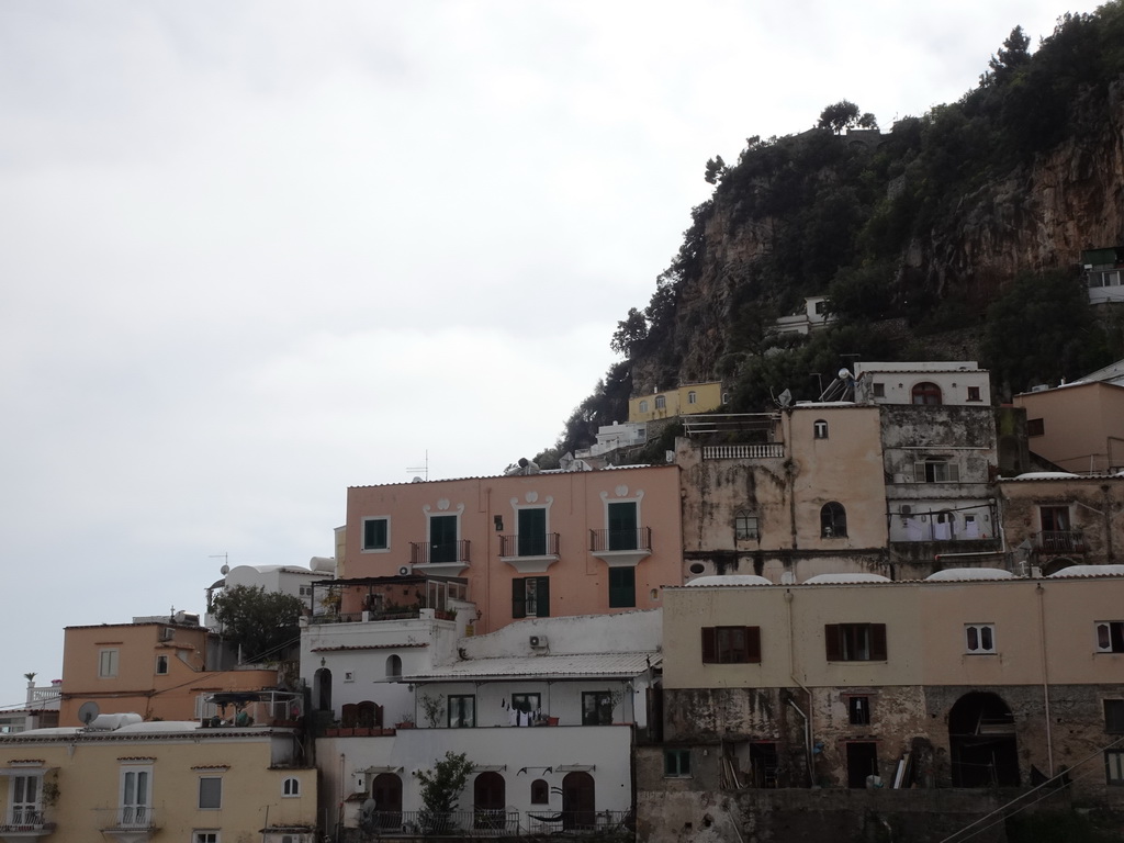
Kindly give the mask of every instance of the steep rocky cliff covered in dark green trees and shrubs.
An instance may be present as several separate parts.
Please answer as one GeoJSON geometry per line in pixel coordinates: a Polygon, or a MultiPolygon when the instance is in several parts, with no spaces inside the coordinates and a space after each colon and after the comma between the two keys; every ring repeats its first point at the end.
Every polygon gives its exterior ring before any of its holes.
{"type": "Polygon", "coordinates": [[[1124,356],[1120,316],[1094,312],[1079,274],[1081,250],[1124,243],[1122,115],[1116,0],[1059,18],[1033,52],[1015,27],[973,90],[889,132],[844,100],[713,158],[711,197],[611,337],[624,359],[537,460],[681,382],[720,378],[727,409],[752,413],[786,388],[815,398],[809,373],[855,360],[978,359],[1007,396],[1124,356]],[[828,297],[833,325],[770,333],[806,296],[828,297]]]}

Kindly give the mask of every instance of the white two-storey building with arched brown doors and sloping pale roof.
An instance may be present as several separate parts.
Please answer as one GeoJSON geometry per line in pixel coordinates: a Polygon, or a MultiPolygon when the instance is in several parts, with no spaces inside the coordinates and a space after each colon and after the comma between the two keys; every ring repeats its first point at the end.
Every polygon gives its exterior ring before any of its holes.
{"type": "Polygon", "coordinates": [[[463,638],[445,664],[423,659],[387,677],[415,698],[411,723],[317,742],[330,760],[325,801],[344,805],[343,828],[327,831],[357,841],[363,828],[401,836],[436,823],[491,837],[631,828],[632,753],[653,718],[660,628],[659,610],[535,618],[463,638]],[[473,764],[462,810],[428,816],[410,773],[448,752],[473,764]]]}

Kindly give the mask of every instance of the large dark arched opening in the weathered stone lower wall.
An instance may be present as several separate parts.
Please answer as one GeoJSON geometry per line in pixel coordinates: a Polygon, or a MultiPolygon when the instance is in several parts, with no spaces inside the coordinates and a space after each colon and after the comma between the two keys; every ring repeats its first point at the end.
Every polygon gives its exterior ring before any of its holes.
{"type": "Polygon", "coordinates": [[[997,694],[971,691],[949,711],[952,786],[1018,786],[1015,717],[997,694]]]}

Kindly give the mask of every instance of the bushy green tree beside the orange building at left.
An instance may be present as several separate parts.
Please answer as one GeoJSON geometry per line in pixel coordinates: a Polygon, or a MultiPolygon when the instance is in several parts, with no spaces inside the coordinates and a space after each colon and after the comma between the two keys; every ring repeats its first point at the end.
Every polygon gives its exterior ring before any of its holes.
{"type": "Polygon", "coordinates": [[[300,637],[298,627],[305,604],[299,597],[266,591],[261,586],[224,589],[210,611],[223,626],[223,637],[242,650],[246,662],[277,658],[300,637]]]}

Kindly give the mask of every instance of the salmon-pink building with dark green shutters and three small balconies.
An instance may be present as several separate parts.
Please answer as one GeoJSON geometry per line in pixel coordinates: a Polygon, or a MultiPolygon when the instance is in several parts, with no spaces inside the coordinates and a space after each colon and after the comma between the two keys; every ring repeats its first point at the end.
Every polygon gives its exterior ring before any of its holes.
{"type": "Polygon", "coordinates": [[[339,577],[463,578],[488,633],[656,608],[681,554],[677,466],[543,472],[348,489],[339,577]]]}

